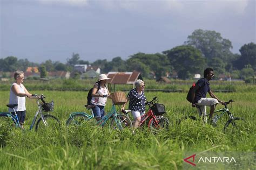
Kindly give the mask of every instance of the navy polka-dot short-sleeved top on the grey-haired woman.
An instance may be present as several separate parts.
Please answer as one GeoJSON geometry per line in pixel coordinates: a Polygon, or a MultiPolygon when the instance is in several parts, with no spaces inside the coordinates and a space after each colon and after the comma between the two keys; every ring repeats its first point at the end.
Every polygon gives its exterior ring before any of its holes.
{"type": "Polygon", "coordinates": [[[139,111],[140,114],[143,114],[146,105],[146,97],[144,95],[144,91],[142,91],[142,94],[139,94],[136,89],[132,89],[127,97],[130,98],[129,109],[133,111],[139,111]]]}

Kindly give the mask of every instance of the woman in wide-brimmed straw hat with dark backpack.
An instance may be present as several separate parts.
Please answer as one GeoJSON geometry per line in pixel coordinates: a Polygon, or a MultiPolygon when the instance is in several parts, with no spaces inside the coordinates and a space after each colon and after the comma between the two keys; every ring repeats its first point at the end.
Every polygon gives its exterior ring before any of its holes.
{"type": "Polygon", "coordinates": [[[106,82],[108,79],[110,78],[108,78],[105,74],[100,74],[98,81],[94,84],[92,89],[91,104],[95,105],[95,107],[92,108],[92,111],[96,121],[100,121],[105,114],[104,107],[107,101],[106,97],[110,96],[109,90],[106,87],[106,82]]]}

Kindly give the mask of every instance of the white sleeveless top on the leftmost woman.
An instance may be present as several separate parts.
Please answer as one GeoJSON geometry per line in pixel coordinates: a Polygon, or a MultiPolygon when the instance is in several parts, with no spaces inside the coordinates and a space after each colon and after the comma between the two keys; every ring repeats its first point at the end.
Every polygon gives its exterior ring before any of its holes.
{"type": "MultiPolygon", "coordinates": [[[[19,91],[20,91],[21,93],[25,93],[25,88],[24,88],[23,84],[13,83],[13,84],[11,85],[11,88],[12,88],[12,86],[14,86],[14,85],[18,86],[18,89],[19,89],[19,91]]],[[[25,104],[26,104],[26,97],[19,97],[19,96],[17,96],[17,95],[14,93],[14,91],[12,91],[12,90],[10,89],[10,100],[9,100],[9,104],[18,104],[18,106],[14,108],[15,111],[25,111],[25,110],[26,110],[26,105],[25,105],[25,104]]],[[[8,111],[9,111],[9,112],[14,112],[14,110],[11,109],[11,108],[9,108],[8,111]]]]}

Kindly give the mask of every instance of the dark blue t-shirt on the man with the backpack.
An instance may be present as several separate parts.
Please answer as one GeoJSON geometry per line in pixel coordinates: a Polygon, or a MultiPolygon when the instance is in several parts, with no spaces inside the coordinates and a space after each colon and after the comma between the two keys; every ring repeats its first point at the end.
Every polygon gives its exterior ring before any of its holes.
{"type": "Polygon", "coordinates": [[[205,98],[208,91],[211,90],[210,86],[209,86],[210,83],[208,82],[208,80],[206,78],[199,79],[197,81],[197,85],[200,88],[196,91],[196,95],[194,97],[195,103],[197,103],[197,101],[199,101],[201,98],[205,98]]]}

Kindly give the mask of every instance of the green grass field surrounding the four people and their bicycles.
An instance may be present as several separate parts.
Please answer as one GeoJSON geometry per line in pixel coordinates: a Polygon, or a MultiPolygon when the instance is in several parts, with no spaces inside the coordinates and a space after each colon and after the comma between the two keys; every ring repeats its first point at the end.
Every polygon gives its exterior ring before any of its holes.
{"type": "MultiPolygon", "coordinates": [[[[240,88],[240,87],[239,87],[240,88]]],[[[254,88],[254,87],[253,87],[254,88]]],[[[55,132],[30,131],[29,126],[37,109],[36,101],[26,99],[25,131],[0,127],[1,169],[181,169],[189,152],[255,151],[256,92],[217,93],[221,100],[233,99],[231,111],[246,120],[247,131],[236,135],[224,134],[225,119],[217,127],[203,126],[199,121],[176,124],[186,114],[197,116],[186,98],[186,93],[146,93],[165,104],[170,119],[170,130],[153,135],[147,130],[114,131],[98,126],[66,128],[65,121],[72,111],[87,111],[86,91],[30,91],[55,101],[52,115],[62,122],[55,132]]],[[[7,111],[9,91],[0,91],[0,110],[7,111]]],[[[110,110],[108,100],[106,110],[110,110]]],[[[217,109],[220,109],[218,105],[217,109]]],[[[246,163],[247,164],[247,163],[246,163]]],[[[252,164],[252,162],[251,162],[252,164]]],[[[251,166],[251,165],[250,165],[251,166]]],[[[253,169],[251,167],[251,169],[253,169]]]]}

